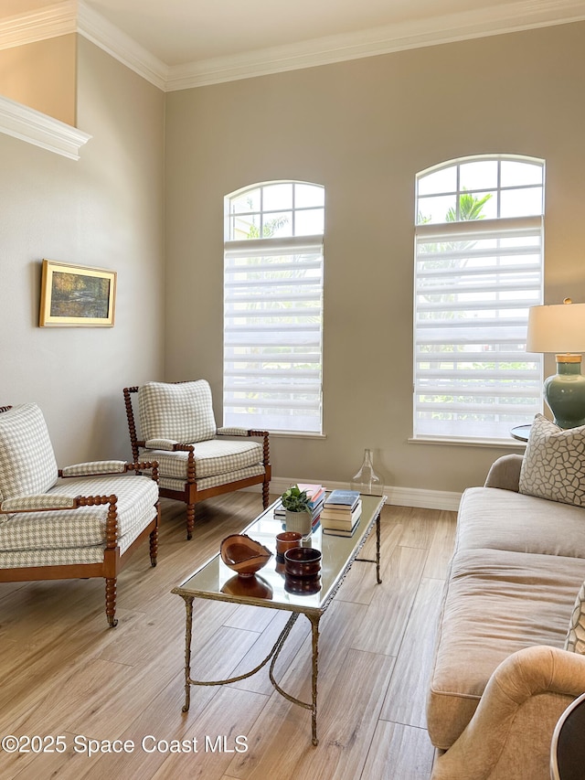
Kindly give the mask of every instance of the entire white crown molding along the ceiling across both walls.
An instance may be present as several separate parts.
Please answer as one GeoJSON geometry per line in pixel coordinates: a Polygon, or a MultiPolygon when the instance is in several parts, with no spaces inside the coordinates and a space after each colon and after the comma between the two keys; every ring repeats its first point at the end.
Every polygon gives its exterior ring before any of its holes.
{"type": "Polygon", "coordinates": [[[42,11],[0,20],[0,49],[77,31],[158,89],[177,91],[584,19],[585,0],[519,0],[511,5],[169,66],[84,0],[63,0],[42,11]]]}

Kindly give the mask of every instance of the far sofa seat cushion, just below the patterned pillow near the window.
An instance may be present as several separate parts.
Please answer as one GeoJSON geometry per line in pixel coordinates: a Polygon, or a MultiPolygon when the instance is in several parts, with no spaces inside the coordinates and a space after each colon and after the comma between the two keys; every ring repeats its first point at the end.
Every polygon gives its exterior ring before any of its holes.
{"type": "Polygon", "coordinates": [[[496,487],[468,487],[459,517],[457,550],[489,548],[585,559],[585,508],[496,487]]]}

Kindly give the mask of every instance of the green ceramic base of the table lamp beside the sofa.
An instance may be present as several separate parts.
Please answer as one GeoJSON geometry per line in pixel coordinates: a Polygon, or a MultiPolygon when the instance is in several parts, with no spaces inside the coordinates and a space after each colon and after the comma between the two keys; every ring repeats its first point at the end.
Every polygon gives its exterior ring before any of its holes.
{"type": "Polygon", "coordinates": [[[559,428],[585,425],[585,377],[580,355],[557,355],[557,373],[545,381],[545,399],[559,428]]]}

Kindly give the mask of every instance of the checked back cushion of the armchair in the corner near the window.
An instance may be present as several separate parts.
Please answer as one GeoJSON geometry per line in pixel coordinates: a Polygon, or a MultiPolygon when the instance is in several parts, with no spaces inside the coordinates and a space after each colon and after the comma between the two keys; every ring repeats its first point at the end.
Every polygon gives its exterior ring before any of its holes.
{"type": "Polygon", "coordinates": [[[141,436],[192,444],[216,435],[217,426],[206,379],[195,382],[146,382],[138,390],[141,436]]]}

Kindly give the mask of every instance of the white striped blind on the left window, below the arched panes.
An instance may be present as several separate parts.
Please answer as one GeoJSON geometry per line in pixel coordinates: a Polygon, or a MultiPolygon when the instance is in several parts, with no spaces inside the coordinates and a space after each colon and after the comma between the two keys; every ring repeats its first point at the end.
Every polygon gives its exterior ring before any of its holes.
{"type": "Polygon", "coordinates": [[[323,236],[228,240],[224,425],[322,431],[323,236]]]}

